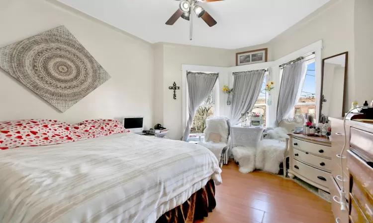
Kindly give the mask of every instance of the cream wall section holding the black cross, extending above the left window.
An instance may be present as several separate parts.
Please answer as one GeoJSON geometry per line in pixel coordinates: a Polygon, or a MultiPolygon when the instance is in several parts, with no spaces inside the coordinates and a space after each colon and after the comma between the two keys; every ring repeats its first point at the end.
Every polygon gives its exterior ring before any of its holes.
{"type": "MultiPolygon", "coordinates": [[[[230,50],[193,47],[186,45],[164,44],[164,88],[163,88],[163,118],[164,126],[169,128],[170,138],[180,139],[182,132],[182,92],[177,90],[177,100],[168,87],[174,81],[182,86],[182,64],[207,65],[227,67],[234,59],[230,50]]],[[[222,81],[219,84],[224,84],[222,81]]]]}

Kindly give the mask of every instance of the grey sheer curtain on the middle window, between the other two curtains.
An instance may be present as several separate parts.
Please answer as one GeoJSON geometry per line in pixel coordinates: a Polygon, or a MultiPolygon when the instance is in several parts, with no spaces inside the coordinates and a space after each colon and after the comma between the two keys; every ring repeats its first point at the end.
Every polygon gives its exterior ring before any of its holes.
{"type": "Polygon", "coordinates": [[[233,97],[231,104],[231,125],[241,121],[241,114],[251,111],[262,88],[265,70],[234,73],[233,97]]]}

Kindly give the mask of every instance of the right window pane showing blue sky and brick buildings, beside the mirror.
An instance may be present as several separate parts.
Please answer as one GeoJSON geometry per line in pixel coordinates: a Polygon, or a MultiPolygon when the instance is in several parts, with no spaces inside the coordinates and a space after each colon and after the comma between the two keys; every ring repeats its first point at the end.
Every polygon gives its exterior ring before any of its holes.
{"type": "Polygon", "coordinates": [[[315,62],[312,60],[310,61],[311,63],[307,65],[306,77],[304,79],[299,101],[294,107],[294,115],[307,113],[316,117],[315,62]]]}

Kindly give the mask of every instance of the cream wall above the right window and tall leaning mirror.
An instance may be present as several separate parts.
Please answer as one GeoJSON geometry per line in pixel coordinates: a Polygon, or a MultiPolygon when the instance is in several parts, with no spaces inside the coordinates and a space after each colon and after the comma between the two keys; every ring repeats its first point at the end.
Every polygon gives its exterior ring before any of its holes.
{"type": "MultiPolygon", "coordinates": [[[[372,0],[365,1],[373,2],[372,0]]],[[[355,82],[356,72],[354,69],[354,43],[356,42],[354,41],[354,3],[355,0],[330,0],[270,42],[237,49],[235,53],[268,48],[268,60],[273,61],[318,40],[323,41],[322,58],[348,51],[349,64],[348,79],[346,80],[348,83],[346,90],[346,108],[349,108],[349,105],[351,105],[354,100],[359,99],[357,91],[360,88],[360,83],[355,82]]],[[[373,27],[372,22],[365,22],[364,24],[364,27],[368,24],[371,25],[370,28],[373,27]]],[[[368,87],[364,87],[364,89],[369,90],[368,87]]]]}

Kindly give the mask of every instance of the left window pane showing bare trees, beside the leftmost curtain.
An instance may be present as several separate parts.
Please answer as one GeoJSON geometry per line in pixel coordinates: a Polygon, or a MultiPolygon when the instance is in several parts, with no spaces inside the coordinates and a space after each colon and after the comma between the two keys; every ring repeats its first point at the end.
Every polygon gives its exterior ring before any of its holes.
{"type": "MultiPolygon", "coordinates": [[[[216,87],[216,86],[215,86],[216,87]]],[[[193,123],[190,127],[190,134],[203,133],[206,128],[206,118],[214,116],[215,107],[215,87],[205,98],[202,105],[195,111],[193,123]]]]}

